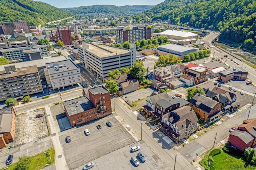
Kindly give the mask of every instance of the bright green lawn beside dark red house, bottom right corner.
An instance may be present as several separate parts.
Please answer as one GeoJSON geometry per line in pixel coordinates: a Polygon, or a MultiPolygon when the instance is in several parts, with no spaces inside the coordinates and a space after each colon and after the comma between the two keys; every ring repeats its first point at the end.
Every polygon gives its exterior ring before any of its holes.
{"type": "Polygon", "coordinates": [[[244,164],[246,163],[244,162],[244,160],[242,160],[241,156],[227,154],[226,152],[221,152],[220,154],[214,156],[213,159],[214,159],[214,162],[213,162],[214,168],[216,170],[230,170],[231,169],[230,166],[234,168],[234,165],[239,166],[239,170],[240,170],[241,169],[240,165],[244,167],[244,164]]]}

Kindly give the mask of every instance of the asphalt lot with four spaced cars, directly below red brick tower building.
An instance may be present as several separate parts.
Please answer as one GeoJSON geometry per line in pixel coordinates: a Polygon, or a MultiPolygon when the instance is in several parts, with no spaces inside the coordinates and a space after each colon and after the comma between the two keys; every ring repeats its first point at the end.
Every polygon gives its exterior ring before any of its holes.
{"type": "Polygon", "coordinates": [[[86,162],[136,142],[112,115],[80,128],[66,130],[59,138],[69,169],[75,169],[86,162]],[[106,126],[107,121],[112,123],[112,127],[106,126]],[[102,126],[100,130],[96,128],[97,124],[102,126]],[[85,129],[90,131],[90,135],[85,135],[85,129]],[[71,138],[69,143],[66,141],[67,135],[71,138]]]}

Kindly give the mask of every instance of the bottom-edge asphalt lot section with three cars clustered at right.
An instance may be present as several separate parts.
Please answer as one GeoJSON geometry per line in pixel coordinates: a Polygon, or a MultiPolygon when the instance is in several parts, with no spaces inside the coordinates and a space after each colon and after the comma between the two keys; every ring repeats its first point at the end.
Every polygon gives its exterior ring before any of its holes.
{"type": "MultiPolygon", "coordinates": [[[[84,162],[84,164],[89,163],[84,162]]],[[[102,156],[96,160],[92,161],[94,163],[95,170],[156,170],[156,169],[170,169],[170,167],[165,167],[161,159],[144,143],[143,140],[136,142],[133,145],[125,146],[120,148],[110,154],[102,156]],[[131,147],[140,146],[140,150],[136,152],[130,152],[131,147]],[[146,162],[142,163],[138,158],[137,154],[141,152],[145,158],[146,162]],[[134,166],[131,161],[131,157],[134,156],[138,159],[140,165],[138,167],[134,166]]],[[[81,170],[83,166],[76,168],[76,170],[81,170]]]]}

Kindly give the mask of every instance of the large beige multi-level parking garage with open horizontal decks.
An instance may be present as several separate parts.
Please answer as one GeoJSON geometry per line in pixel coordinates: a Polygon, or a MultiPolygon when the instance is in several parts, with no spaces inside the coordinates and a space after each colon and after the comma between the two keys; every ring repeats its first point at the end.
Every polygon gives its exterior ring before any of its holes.
{"type": "Polygon", "coordinates": [[[82,61],[84,67],[92,71],[102,81],[108,78],[109,71],[120,70],[122,67],[130,68],[136,62],[135,44],[131,44],[130,49],[124,49],[103,43],[84,43],[82,50],[84,51],[84,61],[82,61]]]}

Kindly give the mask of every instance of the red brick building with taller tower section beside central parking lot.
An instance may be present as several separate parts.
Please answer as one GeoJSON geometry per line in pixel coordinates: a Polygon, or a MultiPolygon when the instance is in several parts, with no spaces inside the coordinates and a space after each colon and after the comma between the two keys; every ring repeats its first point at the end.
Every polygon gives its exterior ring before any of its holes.
{"type": "Polygon", "coordinates": [[[72,127],[112,113],[110,92],[104,86],[83,91],[83,97],[64,101],[64,110],[72,127]]]}

